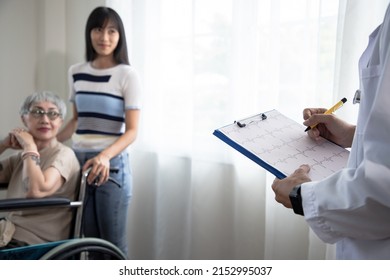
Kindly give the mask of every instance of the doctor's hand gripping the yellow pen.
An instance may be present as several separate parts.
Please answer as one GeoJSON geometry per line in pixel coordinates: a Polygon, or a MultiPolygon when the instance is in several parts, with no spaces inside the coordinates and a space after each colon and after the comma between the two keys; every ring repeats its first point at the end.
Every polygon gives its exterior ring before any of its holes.
{"type": "Polygon", "coordinates": [[[320,136],[349,148],[355,134],[355,125],[349,124],[334,114],[325,115],[324,108],[306,108],[303,110],[303,124],[305,126],[317,125],[308,131],[310,138],[319,140],[320,136]]]}

